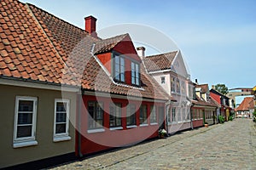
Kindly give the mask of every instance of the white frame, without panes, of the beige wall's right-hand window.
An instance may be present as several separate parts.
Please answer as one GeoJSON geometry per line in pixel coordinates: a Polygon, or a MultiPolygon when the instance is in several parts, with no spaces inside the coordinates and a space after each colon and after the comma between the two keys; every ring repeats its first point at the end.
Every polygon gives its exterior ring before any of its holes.
{"type": "Polygon", "coordinates": [[[54,113],[55,113],[55,122],[54,122],[54,135],[53,135],[53,141],[54,142],[59,142],[63,140],[70,140],[71,137],[68,134],[69,131],[69,112],[70,112],[70,100],[69,99],[55,99],[55,108],[54,108],[54,113]],[[57,111],[56,111],[56,106],[57,103],[67,103],[67,116],[66,116],[66,132],[65,133],[56,133],[56,116],[57,116],[57,111]]]}

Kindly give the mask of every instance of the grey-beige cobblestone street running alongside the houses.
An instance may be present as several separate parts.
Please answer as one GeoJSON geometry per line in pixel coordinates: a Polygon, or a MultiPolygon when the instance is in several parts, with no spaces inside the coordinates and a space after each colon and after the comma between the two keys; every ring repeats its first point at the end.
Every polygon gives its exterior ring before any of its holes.
{"type": "Polygon", "coordinates": [[[55,169],[256,169],[253,121],[201,127],[55,169]]]}

